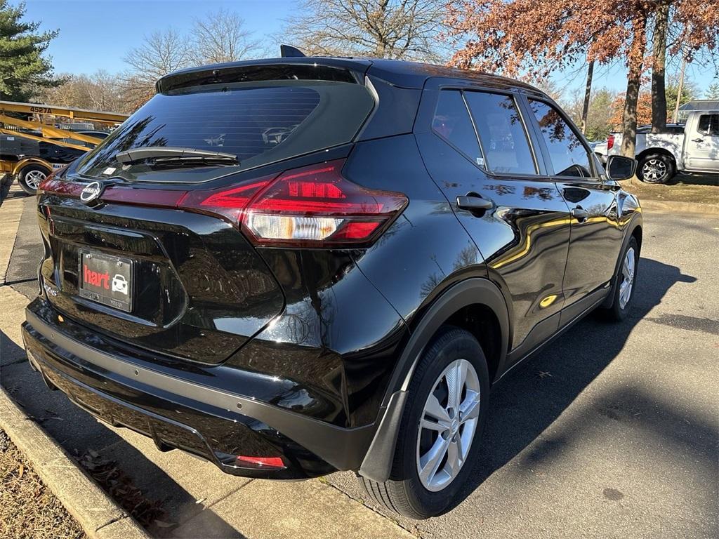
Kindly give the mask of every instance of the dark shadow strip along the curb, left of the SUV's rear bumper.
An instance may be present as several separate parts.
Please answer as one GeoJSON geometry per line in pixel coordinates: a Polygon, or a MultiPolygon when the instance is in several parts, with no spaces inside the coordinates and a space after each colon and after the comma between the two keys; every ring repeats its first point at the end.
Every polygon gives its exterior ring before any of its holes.
{"type": "MultiPolygon", "coordinates": [[[[149,524],[147,530],[152,535],[174,537],[175,532],[179,532],[184,537],[189,529],[193,537],[244,539],[244,535],[217,515],[212,507],[204,507],[203,500],[193,497],[132,443],[73,405],[63,392],[49,390],[40,374],[29,367],[24,350],[2,331],[0,339],[0,354],[6,359],[0,367],[0,384],[30,420],[55,438],[70,456],[91,465],[88,468],[85,464],[91,476],[98,471],[96,479],[110,474],[105,481],[100,481],[100,486],[116,502],[121,505],[125,502],[124,509],[137,520],[149,524]],[[142,494],[137,494],[134,489],[139,489],[142,494]],[[161,497],[157,493],[162,493],[161,497]],[[138,511],[141,514],[137,514],[138,511]],[[147,511],[152,512],[152,517],[148,517],[147,511]],[[150,519],[152,522],[147,522],[150,519]]],[[[154,446],[152,451],[155,451],[154,446]]],[[[186,458],[194,463],[190,456],[186,458]]],[[[197,466],[203,464],[206,463],[197,466]]],[[[221,474],[221,471],[216,473],[221,474]]]]}

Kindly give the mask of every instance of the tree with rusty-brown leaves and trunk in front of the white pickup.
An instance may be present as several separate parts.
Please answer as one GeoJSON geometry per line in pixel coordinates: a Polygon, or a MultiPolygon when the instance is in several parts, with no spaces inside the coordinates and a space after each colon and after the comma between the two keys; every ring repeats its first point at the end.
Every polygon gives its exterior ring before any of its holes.
{"type": "MultiPolygon", "coordinates": [[[[664,0],[457,0],[447,23],[467,40],[452,63],[506,75],[546,77],[585,57],[600,64],[623,60],[627,89],[623,107],[624,155],[634,155],[637,100],[644,69],[647,28],[664,0]]],[[[672,0],[673,41],[687,50],[716,44],[716,3],[672,0]]]]}

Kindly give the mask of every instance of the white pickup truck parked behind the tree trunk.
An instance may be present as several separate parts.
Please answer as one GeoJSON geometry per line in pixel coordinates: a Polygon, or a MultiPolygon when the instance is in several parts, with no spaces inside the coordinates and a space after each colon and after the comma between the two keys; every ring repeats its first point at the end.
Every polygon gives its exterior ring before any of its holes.
{"type": "MultiPolygon", "coordinates": [[[[612,133],[595,152],[620,155],[622,135],[612,133]]],[[[662,133],[637,129],[636,175],[648,183],[667,183],[677,172],[716,175],[719,183],[719,111],[691,111],[684,126],[662,133]]]]}

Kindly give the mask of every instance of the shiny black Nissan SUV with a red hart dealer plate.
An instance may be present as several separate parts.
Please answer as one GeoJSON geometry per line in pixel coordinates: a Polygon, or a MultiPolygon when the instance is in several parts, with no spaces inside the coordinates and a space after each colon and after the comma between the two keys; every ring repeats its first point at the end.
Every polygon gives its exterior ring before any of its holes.
{"type": "Polygon", "coordinates": [[[516,80],[288,57],[178,71],[43,183],[24,343],[47,385],[223,471],[457,498],[491,388],[597,307],[641,208],[516,80]]]}

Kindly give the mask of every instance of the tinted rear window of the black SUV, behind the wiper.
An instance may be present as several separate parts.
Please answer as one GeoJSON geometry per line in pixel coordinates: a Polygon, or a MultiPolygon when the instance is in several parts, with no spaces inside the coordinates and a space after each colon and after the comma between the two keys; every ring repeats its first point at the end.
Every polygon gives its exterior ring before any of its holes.
{"type": "Polygon", "coordinates": [[[160,93],[90,152],[78,172],[96,178],[209,180],[228,169],[247,170],[351,142],[372,106],[364,86],[334,81],[233,83],[160,93]],[[147,146],[230,153],[239,165],[178,174],[180,169],[153,169],[151,163],[123,167],[115,159],[118,152],[147,146]]]}

